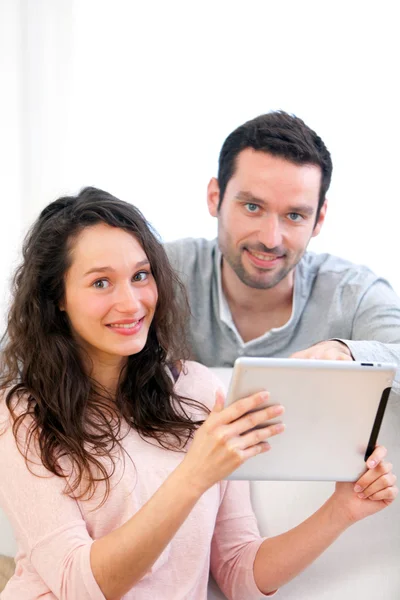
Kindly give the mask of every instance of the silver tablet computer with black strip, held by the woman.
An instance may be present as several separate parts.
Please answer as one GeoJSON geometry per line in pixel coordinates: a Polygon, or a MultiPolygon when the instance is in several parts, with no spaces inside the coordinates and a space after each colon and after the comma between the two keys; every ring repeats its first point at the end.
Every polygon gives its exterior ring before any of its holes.
{"type": "Polygon", "coordinates": [[[267,390],[269,405],[285,407],[269,423],[286,429],[229,479],[356,481],[377,443],[395,372],[386,363],[238,358],[226,404],[267,390]]]}

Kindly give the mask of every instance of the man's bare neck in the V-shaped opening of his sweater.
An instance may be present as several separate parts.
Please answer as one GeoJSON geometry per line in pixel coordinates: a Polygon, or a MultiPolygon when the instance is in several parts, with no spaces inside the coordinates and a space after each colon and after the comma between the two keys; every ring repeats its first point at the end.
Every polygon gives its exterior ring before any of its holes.
{"type": "Polygon", "coordinates": [[[292,314],[294,272],[270,289],[251,288],[244,284],[222,260],[221,284],[232,319],[243,341],[282,327],[292,314]]]}

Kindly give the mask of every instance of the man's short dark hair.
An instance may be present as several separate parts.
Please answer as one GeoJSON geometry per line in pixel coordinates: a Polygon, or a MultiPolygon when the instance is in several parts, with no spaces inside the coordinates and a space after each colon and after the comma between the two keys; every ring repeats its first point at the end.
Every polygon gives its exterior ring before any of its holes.
{"type": "Polygon", "coordinates": [[[321,169],[317,218],[325,202],[332,176],[331,155],[321,138],[304,121],[282,110],[260,115],[240,125],[226,138],[219,155],[220,198],[236,169],[236,158],[246,148],[278,156],[296,165],[316,165],[321,169]]]}

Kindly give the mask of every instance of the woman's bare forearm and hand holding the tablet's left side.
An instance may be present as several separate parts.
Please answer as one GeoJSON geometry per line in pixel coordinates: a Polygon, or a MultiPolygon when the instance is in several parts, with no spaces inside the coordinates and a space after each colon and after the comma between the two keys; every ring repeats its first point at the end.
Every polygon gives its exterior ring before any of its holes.
{"type": "Polygon", "coordinates": [[[250,456],[268,450],[261,440],[282,431],[281,426],[241,435],[282,413],[281,407],[270,407],[245,415],[265,400],[265,394],[255,394],[224,409],[218,394],[182,463],[127,523],[93,542],[91,567],[107,600],[119,600],[145,575],[208,488],[250,456]]]}

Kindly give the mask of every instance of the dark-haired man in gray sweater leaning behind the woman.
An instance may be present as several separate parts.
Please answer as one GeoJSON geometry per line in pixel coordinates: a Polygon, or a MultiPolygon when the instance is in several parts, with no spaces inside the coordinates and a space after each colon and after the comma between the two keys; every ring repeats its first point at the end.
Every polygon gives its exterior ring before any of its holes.
{"type": "Polygon", "coordinates": [[[332,174],[318,135],[285,112],[225,140],[208,208],[218,240],[166,244],[192,311],[192,356],[241,355],[400,363],[400,300],[368,268],[306,252],[325,220],[332,174]]]}

